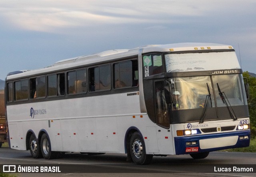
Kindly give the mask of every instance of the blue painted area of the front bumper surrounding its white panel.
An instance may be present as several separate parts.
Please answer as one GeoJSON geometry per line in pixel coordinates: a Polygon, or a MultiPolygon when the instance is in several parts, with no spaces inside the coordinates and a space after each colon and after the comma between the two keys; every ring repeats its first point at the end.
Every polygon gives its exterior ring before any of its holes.
{"type": "Polygon", "coordinates": [[[186,153],[186,147],[198,147],[198,152],[196,153],[218,151],[222,149],[231,149],[231,148],[237,148],[237,147],[248,147],[250,144],[250,130],[228,132],[228,133],[216,133],[216,134],[210,134],[210,135],[208,134],[208,135],[195,135],[195,136],[187,136],[187,137],[174,137],[174,143],[175,143],[176,155],[190,154],[191,152],[186,153]],[[200,149],[200,143],[199,143],[200,139],[229,137],[229,136],[237,136],[237,135],[238,135],[238,141],[235,145],[225,146],[225,147],[216,147],[216,148],[210,148],[210,149],[200,149]],[[248,139],[240,140],[239,139],[240,136],[248,136],[248,139]],[[197,144],[186,146],[186,142],[192,142],[192,141],[196,141],[197,144]]]}

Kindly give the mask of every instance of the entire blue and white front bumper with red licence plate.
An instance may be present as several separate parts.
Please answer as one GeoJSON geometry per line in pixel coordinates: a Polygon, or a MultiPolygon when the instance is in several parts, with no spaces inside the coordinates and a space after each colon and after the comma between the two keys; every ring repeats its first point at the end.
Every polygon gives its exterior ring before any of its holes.
{"type": "Polygon", "coordinates": [[[174,137],[176,155],[218,151],[250,145],[250,130],[174,137]]]}

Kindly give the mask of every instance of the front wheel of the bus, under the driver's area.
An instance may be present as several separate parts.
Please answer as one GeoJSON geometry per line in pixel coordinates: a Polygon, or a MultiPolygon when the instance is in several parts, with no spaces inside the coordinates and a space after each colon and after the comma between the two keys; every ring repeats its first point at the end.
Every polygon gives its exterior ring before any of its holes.
{"type": "Polygon", "coordinates": [[[143,137],[137,131],[132,134],[130,139],[130,153],[134,163],[139,165],[149,164],[153,158],[153,155],[146,154],[143,137]]]}

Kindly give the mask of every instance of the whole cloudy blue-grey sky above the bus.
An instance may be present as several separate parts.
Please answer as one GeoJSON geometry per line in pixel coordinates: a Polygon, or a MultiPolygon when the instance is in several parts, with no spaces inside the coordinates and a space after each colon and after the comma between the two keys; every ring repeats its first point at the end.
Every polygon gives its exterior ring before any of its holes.
{"type": "Polygon", "coordinates": [[[234,47],[256,73],[256,0],[0,0],[0,79],[76,56],[149,44],[234,47]]]}

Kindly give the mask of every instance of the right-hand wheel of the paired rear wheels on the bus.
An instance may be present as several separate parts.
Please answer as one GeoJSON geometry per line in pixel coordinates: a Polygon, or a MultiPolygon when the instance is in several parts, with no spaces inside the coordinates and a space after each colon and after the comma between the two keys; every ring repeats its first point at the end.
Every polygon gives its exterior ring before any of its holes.
{"type": "Polygon", "coordinates": [[[40,145],[44,159],[54,159],[58,156],[58,152],[52,151],[50,138],[45,133],[41,137],[40,145]]]}

